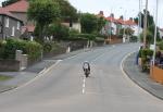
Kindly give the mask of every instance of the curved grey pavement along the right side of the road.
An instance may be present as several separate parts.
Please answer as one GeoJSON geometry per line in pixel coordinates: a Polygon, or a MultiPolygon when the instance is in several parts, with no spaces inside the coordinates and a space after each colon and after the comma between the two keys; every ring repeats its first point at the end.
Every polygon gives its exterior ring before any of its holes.
{"type": "Polygon", "coordinates": [[[137,53],[135,52],[127,57],[123,63],[123,70],[134,83],[154,97],[163,100],[163,85],[152,80],[148,73],[141,72],[139,66],[136,64],[136,55],[137,53]]]}

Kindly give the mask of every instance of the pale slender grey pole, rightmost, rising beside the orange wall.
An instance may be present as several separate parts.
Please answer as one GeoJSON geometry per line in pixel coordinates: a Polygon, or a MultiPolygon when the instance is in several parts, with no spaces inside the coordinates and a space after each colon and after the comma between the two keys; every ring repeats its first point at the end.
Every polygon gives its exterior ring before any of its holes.
{"type": "Polygon", "coordinates": [[[153,52],[153,65],[154,65],[154,61],[155,61],[155,50],[156,50],[156,33],[158,33],[158,5],[159,4],[159,0],[156,0],[156,11],[155,11],[155,32],[154,32],[154,52],[153,52]]]}

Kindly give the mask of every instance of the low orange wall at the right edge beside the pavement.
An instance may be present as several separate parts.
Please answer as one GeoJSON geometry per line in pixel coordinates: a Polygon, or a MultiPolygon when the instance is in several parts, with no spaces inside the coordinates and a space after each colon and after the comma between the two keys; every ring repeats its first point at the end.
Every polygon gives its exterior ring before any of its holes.
{"type": "Polygon", "coordinates": [[[163,70],[158,66],[151,66],[150,76],[153,80],[163,84],[163,70]]]}

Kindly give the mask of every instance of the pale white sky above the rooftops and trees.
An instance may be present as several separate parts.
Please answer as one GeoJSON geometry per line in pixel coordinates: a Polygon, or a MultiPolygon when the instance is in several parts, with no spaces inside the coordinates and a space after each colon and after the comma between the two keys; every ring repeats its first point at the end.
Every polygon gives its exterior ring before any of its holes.
{"type": "MultiPolygon", "coordinates": [[[[105,16],[114,13],[115,17],[123,15],[125,20],[136,17],[139,12],[139,0],[68,0],[78,11],[98,14],[103,11],[105,16]]],[[[141,0],[141,11],[146,0],[141,0]]],[[[156,0],[148,0],[148,9],[155,16],[156,0]]],[[[163,0],[159,0],[158,26],[163,28],[163,0]]]]}

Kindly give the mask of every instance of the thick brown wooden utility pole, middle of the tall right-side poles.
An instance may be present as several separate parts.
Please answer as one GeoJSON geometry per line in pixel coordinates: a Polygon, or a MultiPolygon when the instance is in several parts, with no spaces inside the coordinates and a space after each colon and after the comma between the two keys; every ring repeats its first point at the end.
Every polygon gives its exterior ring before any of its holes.
{"type": "Polygon", "coordinates": [[[147,15],[148,15],[148,0],[146,0],[146,11],[145,11],[145,20],[143,20],[143,48],[147,47],[147,40],[146,40],[146,36],[147,36],[147,15]]]}

